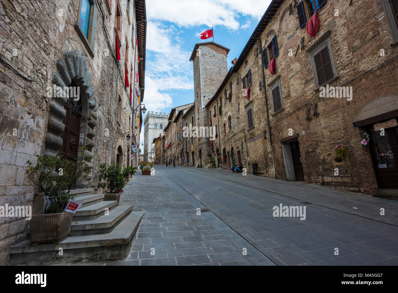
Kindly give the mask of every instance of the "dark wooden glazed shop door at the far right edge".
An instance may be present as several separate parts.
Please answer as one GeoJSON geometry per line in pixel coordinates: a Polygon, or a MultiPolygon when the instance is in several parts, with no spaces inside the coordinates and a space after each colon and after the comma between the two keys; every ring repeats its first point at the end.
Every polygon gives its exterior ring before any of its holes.
{"type": "Polygon", "coordinates": [[[384,129],[384,135],[368,128],[370,148],[378,188],[398,189],[398,127],[384,129]]]}

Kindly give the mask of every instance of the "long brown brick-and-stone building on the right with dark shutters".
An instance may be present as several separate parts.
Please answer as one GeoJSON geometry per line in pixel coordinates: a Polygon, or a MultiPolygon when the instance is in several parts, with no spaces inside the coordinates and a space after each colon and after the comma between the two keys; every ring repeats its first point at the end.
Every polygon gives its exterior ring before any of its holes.
{"type": "Polygon", "coordinates": [[[242,162],[252,172],[256,162],[262,176],[396,194],[396,7],[388,0],[294,6],[271,2],[205,105],[221,129],[215,151],[221,161],[225,156],[222,167],[242,162]],[[312,36],[306,22],[316,9],[320,25],[312,36]],[[346,154],[336,153],[340,145],[346,154]]]}

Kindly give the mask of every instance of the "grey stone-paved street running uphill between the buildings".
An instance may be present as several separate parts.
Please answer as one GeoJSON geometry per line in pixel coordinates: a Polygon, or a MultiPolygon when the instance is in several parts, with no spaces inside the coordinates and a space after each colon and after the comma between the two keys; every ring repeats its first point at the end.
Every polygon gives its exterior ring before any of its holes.
{"type": "Polygon", "coordinates": [[[155,165],[155,176],[133,176],[121,205],[146,212],[129,257],[85,264],[398,264],[392,200],[220,169],[155,165]],[[306,219],[273,217],[280,204],[305,205],[306,219]]]}

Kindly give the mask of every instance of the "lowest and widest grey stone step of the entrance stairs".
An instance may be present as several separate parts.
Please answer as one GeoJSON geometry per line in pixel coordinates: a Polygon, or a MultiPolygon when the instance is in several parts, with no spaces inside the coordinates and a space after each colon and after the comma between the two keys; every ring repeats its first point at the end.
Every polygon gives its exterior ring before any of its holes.
{"type": "Polygon", "coordinates": [[[107,234],[69,236],[57,244],[43,243],[36,246],[32,246],[27,239],[10,247],[10,264],[43,265],[79,260],[122,260],[130,253],[134,235],[144,213],[131,212],[107,234]]]}

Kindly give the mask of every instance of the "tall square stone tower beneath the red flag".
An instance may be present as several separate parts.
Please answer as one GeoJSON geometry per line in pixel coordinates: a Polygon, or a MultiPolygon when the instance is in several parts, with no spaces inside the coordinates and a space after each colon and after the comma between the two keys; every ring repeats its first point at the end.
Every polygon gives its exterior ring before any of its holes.
{"type": "MultiPolygon", "coordinates": [[[[193,49],[193,80],[195,90],[195,116],[197,126],[209,126],[209,113],[205,105],[217,92],[222,80],[228,73],[226,57],[229,49],[214,42],[197,43],[193,49]]],[[[197,158],[205,167],[210,163],[211,147],[209,138],[197,141],[197,158]],[[199,150],[201,158],[199,158],[199,150]]]]}

